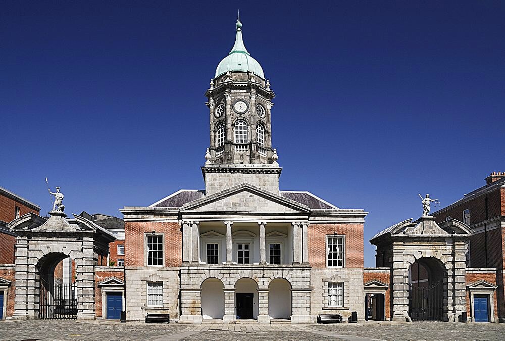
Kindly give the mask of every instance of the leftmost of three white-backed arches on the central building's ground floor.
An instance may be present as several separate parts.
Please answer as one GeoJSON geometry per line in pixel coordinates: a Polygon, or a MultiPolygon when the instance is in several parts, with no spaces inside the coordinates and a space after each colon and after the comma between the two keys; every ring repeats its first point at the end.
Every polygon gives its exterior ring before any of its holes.
{"type": "Polygon", "coordinates": [[[201,316],[204,319],[223,319],[224,285],[217,278],[207,278],[201,283],[201,316]]]}

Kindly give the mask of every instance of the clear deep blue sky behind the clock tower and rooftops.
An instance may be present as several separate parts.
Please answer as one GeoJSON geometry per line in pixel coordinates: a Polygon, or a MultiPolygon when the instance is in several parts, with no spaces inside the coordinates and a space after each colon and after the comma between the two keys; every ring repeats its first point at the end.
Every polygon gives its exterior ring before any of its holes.
{"type": "Polygon", "coordinates": [[[121,215],[204,188],[204,92],[234,42],[277,97],[281,189],[370,212],[368,239],[505,170],[505,2],[0,4],[0,185],[121,215]],[[251,5],[252,4],[252,5],[251,5]]]}

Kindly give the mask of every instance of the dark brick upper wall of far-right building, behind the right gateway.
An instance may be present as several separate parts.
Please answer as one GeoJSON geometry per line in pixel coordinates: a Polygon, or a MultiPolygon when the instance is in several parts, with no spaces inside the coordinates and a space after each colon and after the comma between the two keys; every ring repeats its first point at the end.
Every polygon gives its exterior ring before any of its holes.
{"type": "Polygon", "coordinates": [[[445,221],[447,216],[451,216],[452,219],[463,221],[463,210],[467,208],[470,209],[470,224],[479,223],[486,220],[486,197],[487,197],[487,213],[488,219],[497,217],[502,214],[503,211],[503,199],[505,198],[505,191],[502,188],[496,188],[495,190],[469,200],[465,203],[457,205],[450,210],[442,212],[435,215],[436,222],[441,223],[445,221]]]}

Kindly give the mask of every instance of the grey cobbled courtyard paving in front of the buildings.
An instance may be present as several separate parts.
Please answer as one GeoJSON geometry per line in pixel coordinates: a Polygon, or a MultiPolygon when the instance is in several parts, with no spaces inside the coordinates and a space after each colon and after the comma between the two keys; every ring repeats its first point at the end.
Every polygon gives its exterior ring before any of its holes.
{"type": "Polygon", "coordinates": [[[331,325],[180,325],[116,321],[0,321],[0,339],[394,339],[503,340],[505,324],[446,322],[367,322],[331,325]]]}

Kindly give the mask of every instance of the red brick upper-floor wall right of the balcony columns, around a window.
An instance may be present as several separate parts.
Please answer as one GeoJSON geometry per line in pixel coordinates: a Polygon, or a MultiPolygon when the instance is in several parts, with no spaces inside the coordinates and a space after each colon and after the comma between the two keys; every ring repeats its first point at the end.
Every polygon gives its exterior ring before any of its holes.
{"type": "Polygon", "coordinates": [[[345,267],[363,268],[363,224],[310,224],[309,262],[312,267],[326,267],[326,235],[345,235],[345,267]]]}

